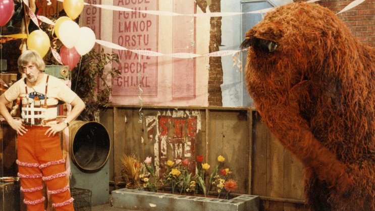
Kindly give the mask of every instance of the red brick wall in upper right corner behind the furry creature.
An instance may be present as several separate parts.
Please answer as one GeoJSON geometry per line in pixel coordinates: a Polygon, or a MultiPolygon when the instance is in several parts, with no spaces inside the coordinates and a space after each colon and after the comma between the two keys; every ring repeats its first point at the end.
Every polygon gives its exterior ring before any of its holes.
{"type": "MultiPolygon", "coordinates": [[[[325,0],[319,4],[338,13],[351,2],[353,1],[325,0]]],[[[355,8],[338,14],[338,17],[359,41],[375,47],[375,0],[366,0],[355,8]]]]}

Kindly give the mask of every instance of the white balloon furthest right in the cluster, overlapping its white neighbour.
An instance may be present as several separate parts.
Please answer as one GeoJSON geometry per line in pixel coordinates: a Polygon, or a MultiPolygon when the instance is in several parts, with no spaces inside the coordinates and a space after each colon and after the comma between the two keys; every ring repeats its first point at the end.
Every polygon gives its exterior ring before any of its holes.
{"type": "Polygon", "coordinates": [[[81,27],[79,29],[79,38],[74,47],[79,55],[85,55],[95,45],[95,33],[88,27],[81,27]]]}

